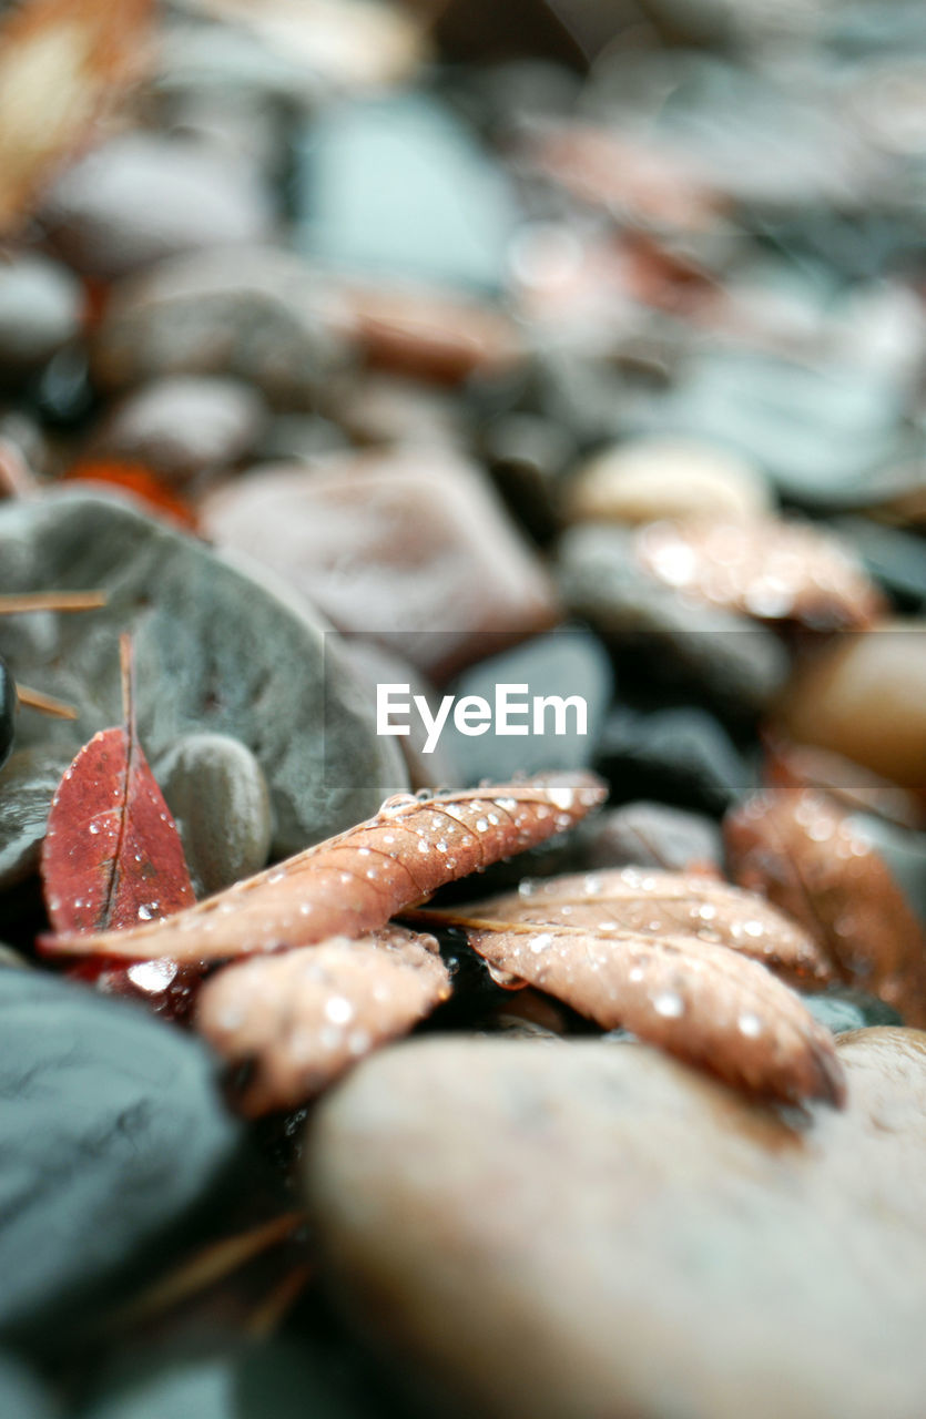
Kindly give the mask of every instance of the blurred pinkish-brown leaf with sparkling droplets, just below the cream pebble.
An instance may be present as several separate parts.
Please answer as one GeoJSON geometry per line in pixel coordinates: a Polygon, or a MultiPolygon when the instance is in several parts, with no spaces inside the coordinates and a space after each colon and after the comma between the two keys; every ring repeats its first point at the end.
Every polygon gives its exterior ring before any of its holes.
{"type": "Polygon", "coordinates": [[[660,582],[757,620],[862,630],[885,609],[841,543],[801,522],[650,522],[633,545],[660,582]]]}

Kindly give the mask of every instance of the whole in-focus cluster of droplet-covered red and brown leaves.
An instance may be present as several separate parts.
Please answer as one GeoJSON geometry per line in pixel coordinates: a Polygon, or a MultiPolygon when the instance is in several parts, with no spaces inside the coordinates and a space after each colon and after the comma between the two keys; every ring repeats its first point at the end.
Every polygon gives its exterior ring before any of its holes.
{"type": "Polygon", "coordinates": [[[577,823],[605,796],[588,773],[401,795],[193,902],[138,739],[129,661],[124,646],[124,725],[78,753],[54,799],[43,851],[54,931],[41,945],[104,989],[189,1017],[234,1066],[244,1112],[298,1105],[446,1000],[452,978],[427,929],[446,927],[508,988],[533,985],[760,1095],[842,1101],[829,1033],[775,979],[819,988],[839,972],[760,895],[706,873],[623,868],[525,880],[466,910],[422,905],[577,823]]]}

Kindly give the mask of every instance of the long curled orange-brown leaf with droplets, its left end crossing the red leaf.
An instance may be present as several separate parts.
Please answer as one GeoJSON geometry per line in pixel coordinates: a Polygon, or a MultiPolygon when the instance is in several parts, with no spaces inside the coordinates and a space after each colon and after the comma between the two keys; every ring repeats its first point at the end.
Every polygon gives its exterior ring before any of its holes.
{"type": "Polygon", "coordinates": [[[419,799],[396,795],[379,813],[165,921],[95,937],[47,938],[53,955],[217,961],[356,938],[443,883],[571,827],[605,797],[594,773],[419,799]]]}

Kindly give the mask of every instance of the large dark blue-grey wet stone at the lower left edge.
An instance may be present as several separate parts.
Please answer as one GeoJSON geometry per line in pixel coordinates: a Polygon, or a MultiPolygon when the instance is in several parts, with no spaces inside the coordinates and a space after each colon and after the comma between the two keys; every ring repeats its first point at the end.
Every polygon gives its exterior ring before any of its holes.
{"type": "Polygon", "coordinates": [[[9,1331],[80,1314],[81,1290],[112,1286],[205,1199],[240,1135],[206,1049],[138,1007],[0,971],[0,1015],[9,1331]]]}

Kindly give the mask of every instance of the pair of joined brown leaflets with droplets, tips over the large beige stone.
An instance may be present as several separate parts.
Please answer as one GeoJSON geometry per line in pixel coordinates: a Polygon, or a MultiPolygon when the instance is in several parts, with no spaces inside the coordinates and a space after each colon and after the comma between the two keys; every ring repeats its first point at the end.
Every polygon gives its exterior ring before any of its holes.
{"type": "Polygon", "coordinates": [[[696,874],[636,868],[527,885],[527,894],[412,920],[460,927],[494,972],[730,1084],[842,1104],[829,1032],[766,969],[819,983],[827,966],[761,898],[696,874]]]}

